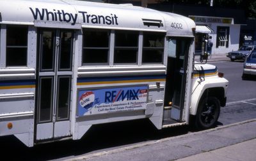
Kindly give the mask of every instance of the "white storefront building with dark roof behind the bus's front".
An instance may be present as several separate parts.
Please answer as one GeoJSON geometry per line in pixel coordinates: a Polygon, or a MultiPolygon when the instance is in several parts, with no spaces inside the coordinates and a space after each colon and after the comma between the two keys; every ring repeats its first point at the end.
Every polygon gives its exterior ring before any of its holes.
{"type": "Polygon", "coordinates": [[[246,24],[243,10],[212,6],[181,5],[172,3],[148,4],[148,8],[168,11],[192,18],[197,26],[206,26],[213,32],[212,55],[237,50],[241,45],[241,25],[246,24]]]}

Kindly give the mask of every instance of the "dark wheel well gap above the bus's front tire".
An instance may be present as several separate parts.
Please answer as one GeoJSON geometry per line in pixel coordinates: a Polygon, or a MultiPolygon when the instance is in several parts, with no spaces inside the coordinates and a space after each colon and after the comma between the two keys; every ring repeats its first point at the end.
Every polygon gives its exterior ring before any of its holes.
{"type": "Polygon", "coordinates": [[[202,102],[206,96],[216,97],[220,101],[221,107],[226,106],[225,90],[223,87],[214,87],[214,88],[205,89],[204,94],[200,98],[200,102],[202,102]]]}

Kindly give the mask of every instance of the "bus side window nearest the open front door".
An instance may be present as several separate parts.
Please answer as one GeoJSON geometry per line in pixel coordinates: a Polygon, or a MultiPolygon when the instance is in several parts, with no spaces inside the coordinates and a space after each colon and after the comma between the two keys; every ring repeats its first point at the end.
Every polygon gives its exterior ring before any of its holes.
{"type": "Polygon", "coordinates": [[[142,63],[163,63],[164,34],[143,32],[142,63]]]}

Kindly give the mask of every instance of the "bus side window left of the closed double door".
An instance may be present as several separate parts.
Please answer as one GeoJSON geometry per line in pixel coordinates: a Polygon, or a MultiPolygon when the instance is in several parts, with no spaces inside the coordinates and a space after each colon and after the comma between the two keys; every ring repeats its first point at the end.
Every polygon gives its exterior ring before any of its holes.
{"type": "Polygon", "coordinates": [[[27,66],[28,26],[6,25],[6,67],[27,66]]]}

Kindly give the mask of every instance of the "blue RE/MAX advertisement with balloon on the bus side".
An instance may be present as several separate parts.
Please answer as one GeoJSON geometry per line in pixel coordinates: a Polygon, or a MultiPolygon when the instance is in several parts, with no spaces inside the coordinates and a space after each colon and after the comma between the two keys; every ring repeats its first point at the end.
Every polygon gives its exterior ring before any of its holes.
{"type": "Polygon", "coordinates": [[[79,90],[77,115],[84,116],[145,109],[147,96],[147,86],[79,90]]]}

